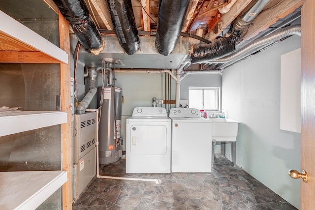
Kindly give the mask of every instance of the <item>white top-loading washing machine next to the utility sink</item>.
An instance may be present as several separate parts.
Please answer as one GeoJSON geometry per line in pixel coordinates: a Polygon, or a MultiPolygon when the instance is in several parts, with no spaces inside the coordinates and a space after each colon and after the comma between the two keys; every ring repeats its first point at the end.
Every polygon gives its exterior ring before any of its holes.
{"type": "Polygon", "coordinates": [[[199,110],[172,108],[172,172],[211,172],[212,121],[199,110]]]}

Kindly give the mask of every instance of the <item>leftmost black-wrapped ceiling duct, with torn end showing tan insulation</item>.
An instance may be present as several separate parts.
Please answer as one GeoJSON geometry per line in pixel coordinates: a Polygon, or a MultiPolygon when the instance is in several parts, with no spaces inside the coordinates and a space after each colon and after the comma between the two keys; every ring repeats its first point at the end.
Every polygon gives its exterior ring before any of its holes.
{"type": "Polygon", "coordinates": [[[84,0],[54,0],[63,17],[71,24],[75,35],[89,53],[98,55],[105,43],[97,30],[84,0]]]}

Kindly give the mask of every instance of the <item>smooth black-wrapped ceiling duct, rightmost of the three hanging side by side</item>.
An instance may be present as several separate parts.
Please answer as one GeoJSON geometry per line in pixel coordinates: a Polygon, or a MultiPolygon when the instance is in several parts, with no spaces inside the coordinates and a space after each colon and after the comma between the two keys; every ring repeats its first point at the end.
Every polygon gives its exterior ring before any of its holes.
{"type": "Polygon", "coordinates": [[[168,56],[174,50],[183,28],[189,0],[159,0],[156,48],[168,56]]]}

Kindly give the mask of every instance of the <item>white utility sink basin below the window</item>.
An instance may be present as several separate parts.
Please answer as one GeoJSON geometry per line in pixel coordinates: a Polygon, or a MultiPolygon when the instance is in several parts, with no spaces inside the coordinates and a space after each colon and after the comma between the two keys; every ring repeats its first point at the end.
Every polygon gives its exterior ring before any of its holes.
{"type": "Polygon", "coordinates": [[[239,121],[226,118],[212,118],[212,139],[218,142],[236,141],[239,121]]]}

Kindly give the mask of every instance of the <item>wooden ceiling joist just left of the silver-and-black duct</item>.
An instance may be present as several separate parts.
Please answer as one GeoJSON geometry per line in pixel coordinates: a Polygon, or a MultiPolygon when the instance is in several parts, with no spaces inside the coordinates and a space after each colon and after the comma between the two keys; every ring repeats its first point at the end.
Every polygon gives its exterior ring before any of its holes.
{"type": "Polygon", "coordinates": [[[214,40],[218,37],[218,35],[232,23],[232,21],[249,5],[252,0],[238,0],[235,4],[231,7],[230,11],[223,14],[221,17],[221,21],[215,28],[215,30],[207,33],[204,38],[208,40],[214,40]]]}

